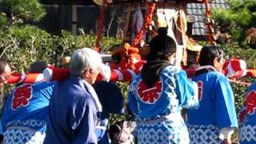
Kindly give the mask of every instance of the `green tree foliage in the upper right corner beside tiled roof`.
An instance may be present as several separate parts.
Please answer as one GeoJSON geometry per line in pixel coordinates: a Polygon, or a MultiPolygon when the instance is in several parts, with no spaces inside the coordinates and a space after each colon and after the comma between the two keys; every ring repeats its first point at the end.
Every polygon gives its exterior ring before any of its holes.
{"type": "Polygon", "coordinates": [[[256,26],[256,1],[229,0],[229,4],[230,9],[212,10],[212,16],[218,25],[223,22],[230,23],[234,40],[243,41],[246,38],[246,30],[256,26]]]}

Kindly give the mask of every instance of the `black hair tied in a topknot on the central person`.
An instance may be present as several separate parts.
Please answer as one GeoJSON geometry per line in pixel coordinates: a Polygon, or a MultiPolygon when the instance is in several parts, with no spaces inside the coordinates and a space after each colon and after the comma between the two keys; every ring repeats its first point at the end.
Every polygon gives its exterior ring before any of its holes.
{"type": "Polygon", "coordinates": [[[150,41],[150,54],[147,60],[166,60],[166,54],[176,52],[176,43],[167,35],[167,28],[158,28],[158,35],[150,41]]]}

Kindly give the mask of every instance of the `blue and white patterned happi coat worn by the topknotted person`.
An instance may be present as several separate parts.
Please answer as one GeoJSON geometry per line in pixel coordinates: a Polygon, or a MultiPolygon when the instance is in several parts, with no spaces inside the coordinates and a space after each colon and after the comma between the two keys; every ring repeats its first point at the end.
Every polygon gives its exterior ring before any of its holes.
{"type": "Polygon", "coordinates": [[[159,76],[150,88],[140,74],[130,85],[129,108],[138,119],[138,143],[189,143],[181,110],[198,105],[198,87],[176,66],[166,66],[159,76]]]}

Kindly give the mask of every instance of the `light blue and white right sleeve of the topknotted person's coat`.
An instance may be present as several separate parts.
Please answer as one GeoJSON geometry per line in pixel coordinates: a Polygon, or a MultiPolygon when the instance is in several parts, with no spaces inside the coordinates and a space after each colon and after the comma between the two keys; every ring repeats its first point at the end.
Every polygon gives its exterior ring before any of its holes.
{"type": "Polygon", "coordinates": [[[176,94],[182,107],[198,106],[198,84],[190,81],[184,70],[176,75],[176,94]]]}

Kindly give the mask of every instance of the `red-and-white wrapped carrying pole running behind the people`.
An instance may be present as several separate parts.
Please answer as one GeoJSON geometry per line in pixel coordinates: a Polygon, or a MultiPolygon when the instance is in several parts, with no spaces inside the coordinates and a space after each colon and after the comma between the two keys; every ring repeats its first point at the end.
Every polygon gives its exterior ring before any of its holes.
{"type": "MultiPolygon", "coordinates": [[[[134,63],[132,69],[122,69],[118,65],[111,64],[110,66],[102,65],[101,74],[98,75],[98,81],[107,82],[131,82],[134,77],[140,73],[142,66],[146,61],[138,61],[134,63]]],[[[194,69],[187,69],[186,74],[191,78],[195,73],[194,69]]],[[[44,74],[11,74],[8,78],[8,83],[33,83],[41,82],[44,80],[62,80],[70,74],[69,69],[49,66],[44,71],[44,74]]],[[[228,78],[240,77],[256,77],[255,69],[246,69],[246,62],[238,58],[232,58],[226,61],[223,65],[223,74],[228,78]]],[[[231,81],[232,82],[232,81],[231,81]]]]}

